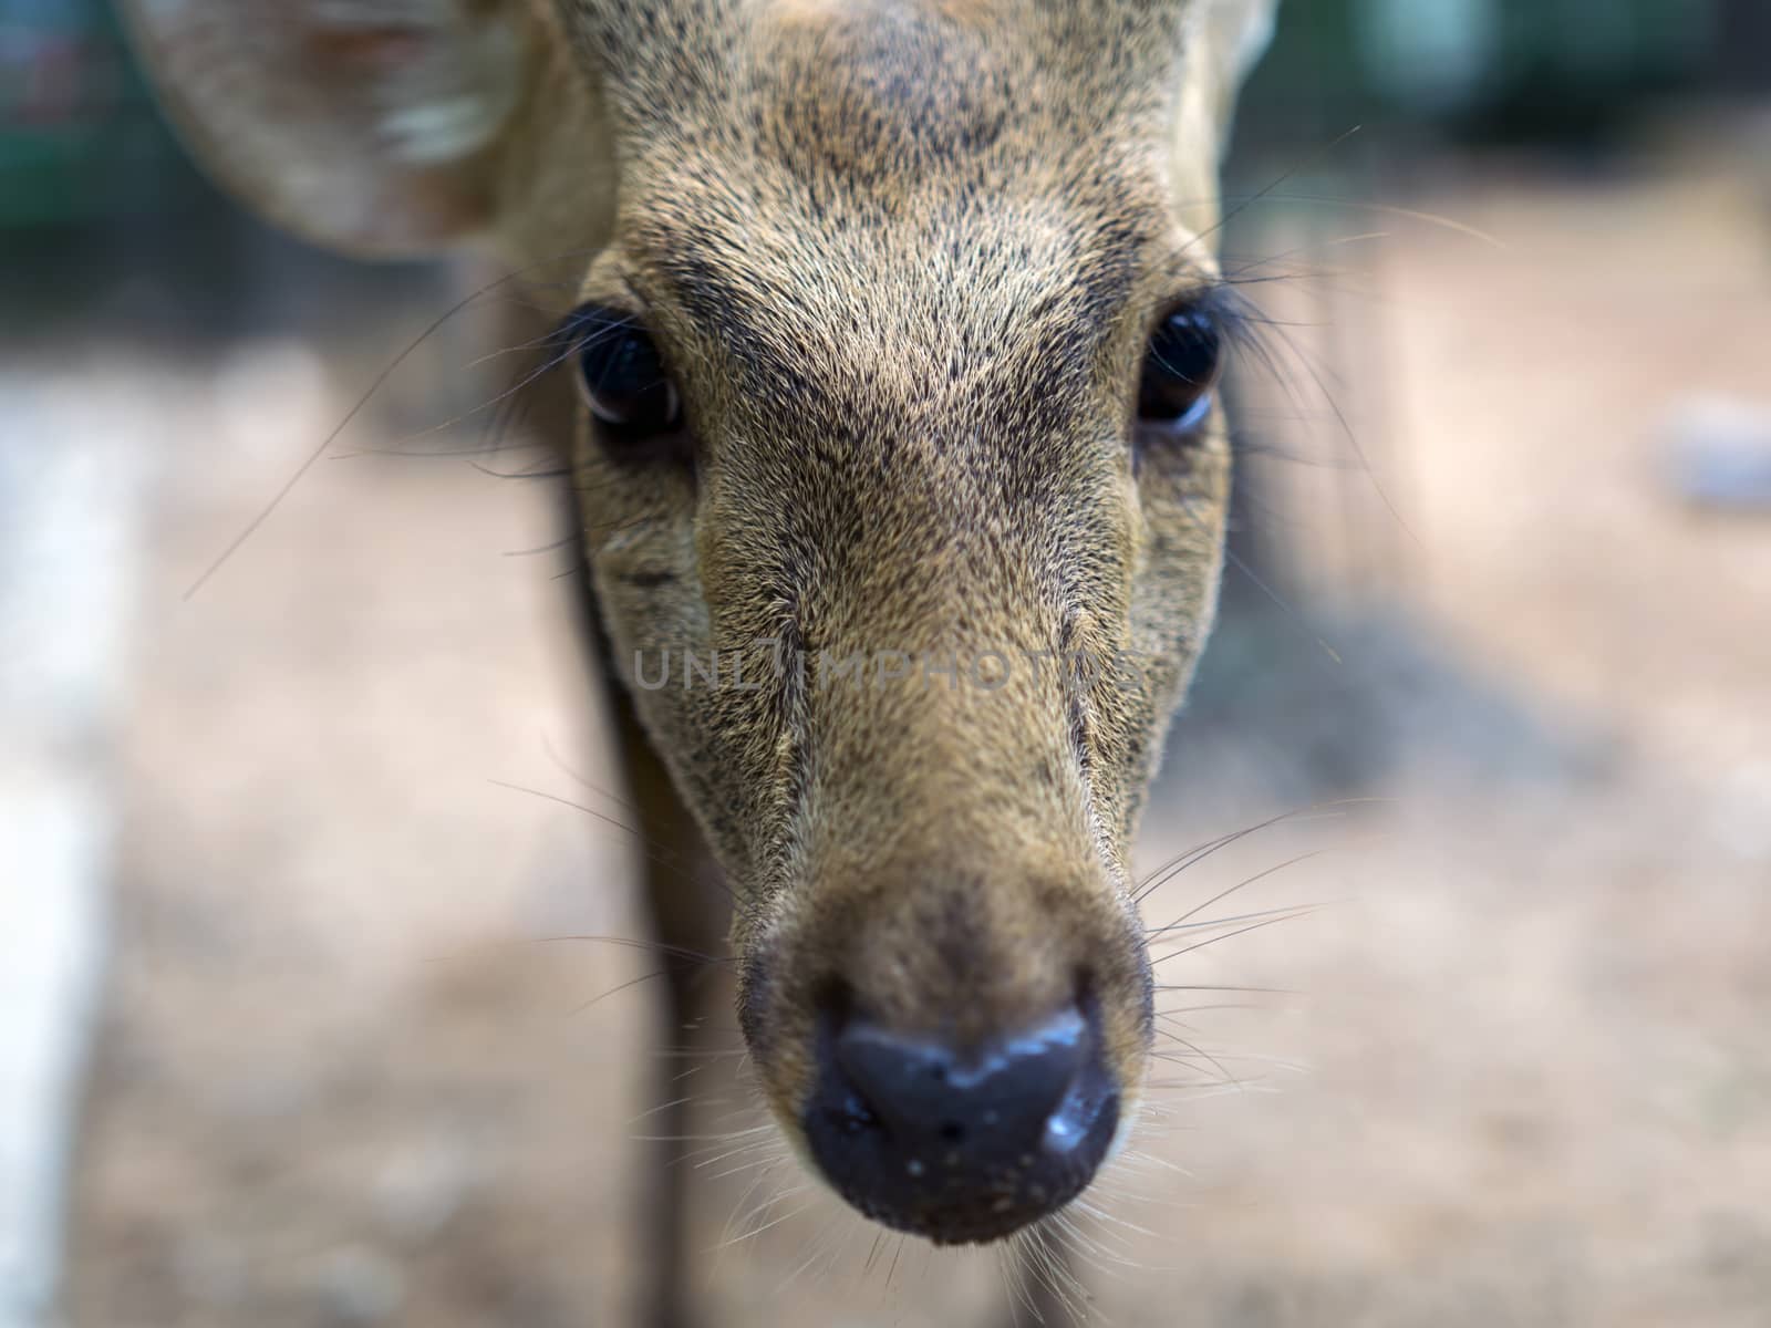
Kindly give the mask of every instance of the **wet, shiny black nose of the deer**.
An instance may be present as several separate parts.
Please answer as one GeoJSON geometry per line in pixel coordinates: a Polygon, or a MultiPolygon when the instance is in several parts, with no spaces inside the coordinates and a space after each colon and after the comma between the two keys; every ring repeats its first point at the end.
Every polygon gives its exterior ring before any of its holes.
{"type": "Polygon", "coordinates": [[[1080,1004],[969,1055],[831,1009],[804,1124],[868,1216],[942,1245],[990,1241],[1087,1186],[1119,1093],[1080,1004]]]}

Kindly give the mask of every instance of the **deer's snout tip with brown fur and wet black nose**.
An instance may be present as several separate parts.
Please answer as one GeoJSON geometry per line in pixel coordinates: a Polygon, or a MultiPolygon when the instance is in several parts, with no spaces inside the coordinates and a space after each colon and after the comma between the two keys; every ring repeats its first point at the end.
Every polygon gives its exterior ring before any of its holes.
{"type": "Polygon", "coordinates": [[[1149,1064],[1149,960],[1119,896],[1082,871],[900,869],[793,903],[740,942],[739,1015],[783,1133],[831,1188],[937,1245],[1075,1201],[1149,1064]]]}

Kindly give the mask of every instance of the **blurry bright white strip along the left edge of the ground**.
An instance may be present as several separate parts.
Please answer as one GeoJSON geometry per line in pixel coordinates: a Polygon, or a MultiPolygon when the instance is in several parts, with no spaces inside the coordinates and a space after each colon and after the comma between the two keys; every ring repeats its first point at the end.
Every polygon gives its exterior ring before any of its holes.
{"type": "Polygon", "coordinates": [[[151,457],[145,384],[0,374],[0,1328],[53,1323],[106,953],[113,735],[151,457]]]}

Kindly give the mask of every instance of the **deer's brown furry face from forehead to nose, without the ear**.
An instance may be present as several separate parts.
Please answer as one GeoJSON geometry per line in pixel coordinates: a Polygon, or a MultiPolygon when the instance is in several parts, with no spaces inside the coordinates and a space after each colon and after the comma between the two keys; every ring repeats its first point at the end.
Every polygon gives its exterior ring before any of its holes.
{"type": "Polygon", "coordinates": [[[731,875],[776,1117],[942,1241],[1066,1202],[1132,1117],[1126,852],[1229,494],[1187,28],[1057,9],[586,34],[622,126],[579,328],[599,602],[731,875]]]}

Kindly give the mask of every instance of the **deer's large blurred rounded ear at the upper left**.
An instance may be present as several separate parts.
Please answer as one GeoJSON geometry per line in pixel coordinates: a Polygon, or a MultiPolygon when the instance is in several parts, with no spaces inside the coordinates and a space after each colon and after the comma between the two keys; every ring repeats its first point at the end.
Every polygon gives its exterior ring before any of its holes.
{"type": "Polygon", "coordinates": [[[429,253],[496,223],[526,0],[124,0],[163,104],[236,195],[319,244],[429,253]]]}

